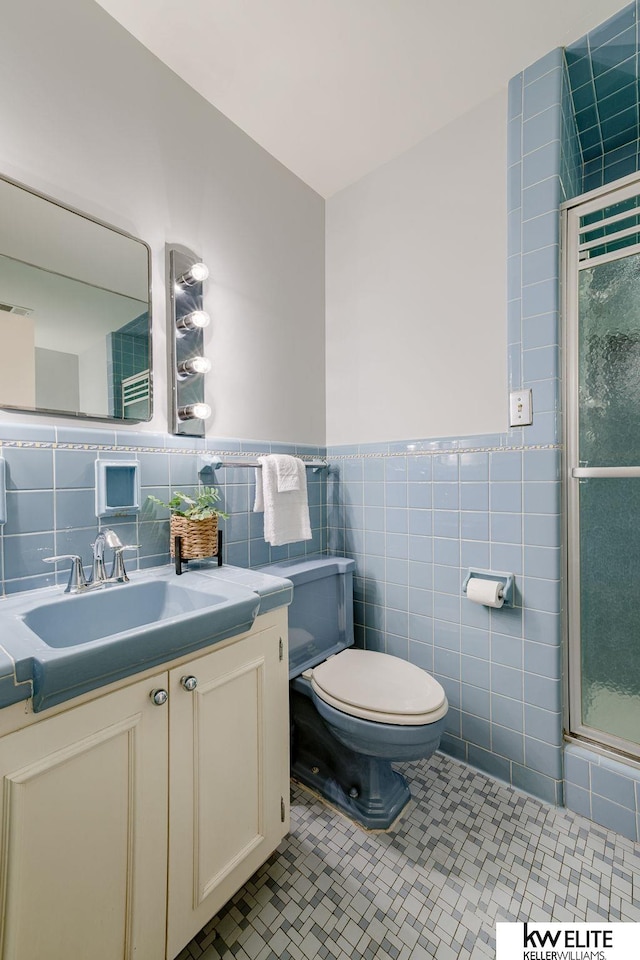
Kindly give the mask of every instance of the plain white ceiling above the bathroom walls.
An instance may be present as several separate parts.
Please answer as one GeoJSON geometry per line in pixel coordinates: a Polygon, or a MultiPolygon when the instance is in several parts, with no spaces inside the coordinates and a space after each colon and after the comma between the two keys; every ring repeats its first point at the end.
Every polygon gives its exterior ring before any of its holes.
{"type": "Polygon", "coordinates": [[[99,0],[324,197],[504,89],[624,0],[99,0]]]}

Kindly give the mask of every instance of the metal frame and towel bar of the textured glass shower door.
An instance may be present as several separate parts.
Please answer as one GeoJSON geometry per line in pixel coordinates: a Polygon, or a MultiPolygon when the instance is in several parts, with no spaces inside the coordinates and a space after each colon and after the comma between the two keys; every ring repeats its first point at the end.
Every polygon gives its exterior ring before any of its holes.
{"type": "MultiPolygon", "coordinates": [[[[636,467],[583,467],[579,455],[579,316],[578,278],[580,275],[579,239],[580,218],[614,203],[640,195],[640,172],[616,180],[597,190],[581,194],[560,207],[561,214],[561,317],[563,335],[560,339],[564,354],[563,363],[563,411],[565,437],[565,466],[563,488],[565,510],[565,557],[563,606],[564,618],[564,672],[565,672],[565,737],[587,741],[605,750],[614,750],[626,758],[640,761],[640,746],[614,734],[606,733],[582,722],[582,651],[580,632],[580,480],[616,477],[637,477],[640,483],[640,466],[636,467]]],[[[640,207],[638,207],[640,214],[640,207]]],[[[627,215],[629,216],[629,215],[627,215]]],[[[591,227],[593,230],[594,228],[591,227]]],[[[584,232],[584,231],[583,231],[584,232]]],[[[636,230],[640,233],[640,227],[636,230]]],[[[640,243],[629,245],[613,253],[605,253],[584,260],[587,265],[619,260],[640,254],[640,243]]]]}

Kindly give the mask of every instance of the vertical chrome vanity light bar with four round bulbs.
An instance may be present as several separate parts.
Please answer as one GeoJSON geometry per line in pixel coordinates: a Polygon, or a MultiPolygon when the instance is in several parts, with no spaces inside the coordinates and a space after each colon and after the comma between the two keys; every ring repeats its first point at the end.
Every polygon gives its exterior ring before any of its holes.
{"type": "Polygon", "coordinates": [[[171,430],[179,436],[203,437],[211,416],[205,403],[204,330],[210,318],[204,309],[208,267],[185,247],[167,248],[168,341],[171,430]]]}

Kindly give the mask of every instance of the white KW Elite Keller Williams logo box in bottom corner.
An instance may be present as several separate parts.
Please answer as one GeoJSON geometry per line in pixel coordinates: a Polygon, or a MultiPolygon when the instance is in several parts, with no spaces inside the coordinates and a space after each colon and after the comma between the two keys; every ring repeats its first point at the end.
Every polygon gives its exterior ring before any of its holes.
{"type": "Polygon", "coordinates": [[[636,960],[637,923],[498,923],[496,960],[636,960]]]}

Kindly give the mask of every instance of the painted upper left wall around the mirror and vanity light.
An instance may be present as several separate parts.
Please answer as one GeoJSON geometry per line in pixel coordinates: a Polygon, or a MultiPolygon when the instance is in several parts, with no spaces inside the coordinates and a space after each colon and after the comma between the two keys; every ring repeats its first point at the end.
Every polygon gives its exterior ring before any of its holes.
{"type": "Polygon", "coordinates": [[[164,258],[179,243],[211,268],[208,433],[323,443],[322,199],[90,0],[7,4],[0,87],[0,173],[151,246],[147,429],[167,429],[164,258]]]}

